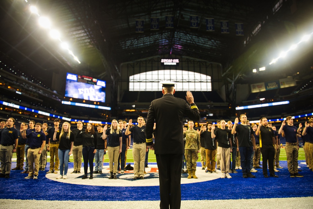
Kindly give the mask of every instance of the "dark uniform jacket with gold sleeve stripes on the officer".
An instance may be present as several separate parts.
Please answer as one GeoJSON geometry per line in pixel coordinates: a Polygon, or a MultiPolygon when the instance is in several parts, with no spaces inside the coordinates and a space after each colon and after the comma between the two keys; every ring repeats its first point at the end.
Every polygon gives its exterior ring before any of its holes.
{"type": "Polygon", "coordinates": [[[196,104],[191,107],[184,99],[176,98],[173,94],[165,94],[160,99],[151,102],[146,122],[146,142],[153,144],[152,132],[154,120],[155,130],[155,154],[182,154],[185,153],[183,140],[183,118],[199,121],[200,113],[196,104]]]}

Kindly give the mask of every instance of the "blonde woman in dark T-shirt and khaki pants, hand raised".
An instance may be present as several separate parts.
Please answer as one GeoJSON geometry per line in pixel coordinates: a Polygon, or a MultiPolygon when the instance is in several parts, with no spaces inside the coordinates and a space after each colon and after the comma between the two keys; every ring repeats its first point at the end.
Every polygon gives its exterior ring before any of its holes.
{"type": "Polygon", "coordinates": [[[105,125],[103,128],[103,139],[107,139],[108,156],[110,165],[110,177],[109,179],[117,179],[117,163],[118,156],[122,152],[122,131],[117,126],[117,121],[113,120],[111,128],[105,125]],[[114,163],[114,168],[113,168],[114,163]]]}

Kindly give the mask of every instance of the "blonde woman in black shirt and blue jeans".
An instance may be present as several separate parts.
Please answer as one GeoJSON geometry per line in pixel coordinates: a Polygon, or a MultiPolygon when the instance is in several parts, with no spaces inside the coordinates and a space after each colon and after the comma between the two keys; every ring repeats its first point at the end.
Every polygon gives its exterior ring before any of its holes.
{"type": "Polygon", "coordinates": [[[64,122],[61,132],[59,127],[54,130],[53,140],[59,139],[59,161],[60,161],[60,175],[56,179],[67,179],[67,170],[69,169],[69,156],[73,151],[74,134],[70,130],[71,125],[64,122]],[[63,174],[64,171],[64,174],[63,174]]]}

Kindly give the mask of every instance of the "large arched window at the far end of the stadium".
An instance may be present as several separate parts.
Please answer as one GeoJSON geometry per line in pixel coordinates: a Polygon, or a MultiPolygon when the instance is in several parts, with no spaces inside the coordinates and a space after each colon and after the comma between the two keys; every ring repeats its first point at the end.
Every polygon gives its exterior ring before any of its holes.
{"type": "Polygon", "coordinates": [[[160,91],[160,81],[177,82],[176,91],[212,91],[211,76],[184,70],[156,70],[129,77],[129,91],[160,91]]]}

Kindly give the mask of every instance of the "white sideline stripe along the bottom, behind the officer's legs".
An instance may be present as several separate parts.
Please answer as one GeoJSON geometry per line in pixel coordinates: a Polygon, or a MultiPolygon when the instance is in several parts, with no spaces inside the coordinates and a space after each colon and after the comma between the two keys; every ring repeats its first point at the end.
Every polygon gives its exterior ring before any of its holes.
{"type": "MultiPolygon", "coordinates": [[[[184,200],[181,208],[312,208],[313,197],[292,197],[292,198],[270,198],[270,199],[240,199],[240,200],[184,200]]],[[[13,200],[0,199],[0,208],[25,208],[31,206],[32,209],[73,209],[73,208],[139,208],[158,209],[160,201],[48,201],[48,200],[13,200]]]]}

